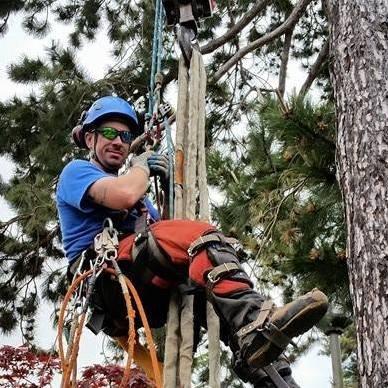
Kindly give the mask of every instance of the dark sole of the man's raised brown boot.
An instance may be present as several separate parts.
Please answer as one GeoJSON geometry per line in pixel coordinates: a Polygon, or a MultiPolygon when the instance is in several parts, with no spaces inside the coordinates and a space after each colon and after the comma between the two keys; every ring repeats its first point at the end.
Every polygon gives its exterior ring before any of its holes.
{"type": "MultiPolygon", "coordinates": [[[[279,330],[289,337],[291,342],[293,337],[302,335],[318,323],[325,315],[327,307],[328,303],[324,300],[312,302],[290,319],[286,325],[279,328],[279,330]]],[[[273,342],[268,340],[266,344],[261,346],[248,358],[247,363],[255,368],[263,368],[275,361],[283,353],[285,348],[286,347],[279,348],[273,342]]]]}

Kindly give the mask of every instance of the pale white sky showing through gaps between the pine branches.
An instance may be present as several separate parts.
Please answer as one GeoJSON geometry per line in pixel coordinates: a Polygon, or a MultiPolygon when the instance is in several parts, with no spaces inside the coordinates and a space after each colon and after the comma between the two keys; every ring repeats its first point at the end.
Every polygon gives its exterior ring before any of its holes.
{"type": "MultiPolygon", "coordinates": [[[[11,17],[9,21],[9,31],[4,37],[0,37],[0,101],[17,95],[26,96],[32,91],[29,85],[17,85],[11,82],[7,77],[7,68],[24,54],[28,56],[44,57],[45,47],[48,47],[52,40],[63,42],[66,45],[66,36],[70,31],[67,26],[55,25],[52,31],[44,39],[33,39],[24,33],[20,26],[20,17],[11,17]]],[[[78,54],[78,60],[94,79],[99,79],[104,75],[105,70],[111,64],[110,48],[107,40],[107,34],[100,32],[95,41],[84,46],[81,53],[78,54]]],[[[288,90],[301,84],[304,78],[303,73],[296,69],[290,72],[292,79],[287,80],[288,90]]],[[[0,128],[1,130],[1,128],[0,128]]],[[[0,156],[0,175],[5,181],[12,176],[14,166],[3,156],[0,156]]],[[[0,197],[0,220],[5,221],[12,217],[12,211],[9,209],[4,199],[0,197]]],[[[52,313],[51,306],[42,306],[39,313],[39,325],[37,328],[37,338],[42,347],[50,348],[56,337],[56,333],[49,324],[49,315],[52,313]]],[[[0,345],[21,345],[21,335],[16,333],[12,336],[1,336],[0,345]]],[[[80,346],[79,365],[91,365],[99,362],[102,352],[101,336],[95,337],[88,330],[84,330],[80,346]]],[[[331,364],[330,359],[319,355],[320,346],[313,349],[293,365],[293,373],[297,382],[302,388],[328,388],[331,386],[331,364]]],[[[59,386],[58,382],[54,387],[59,386]]]]}

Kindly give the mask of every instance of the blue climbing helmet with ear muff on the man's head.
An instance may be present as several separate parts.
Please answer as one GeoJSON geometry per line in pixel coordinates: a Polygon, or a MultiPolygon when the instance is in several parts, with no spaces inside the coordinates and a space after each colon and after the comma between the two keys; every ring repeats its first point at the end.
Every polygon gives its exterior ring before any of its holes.
{"type": "Polygon", "coordinates": [[[133,105],[120,97],[106,96],[99,98],[87,111],[82,112],[78,125],[72,131],[74,143],[80,148],[87,148],[85,133],[92,132],[103,121],[109,119],[121,121],[136,134],[140,133],[139,121],[133,105]]]}

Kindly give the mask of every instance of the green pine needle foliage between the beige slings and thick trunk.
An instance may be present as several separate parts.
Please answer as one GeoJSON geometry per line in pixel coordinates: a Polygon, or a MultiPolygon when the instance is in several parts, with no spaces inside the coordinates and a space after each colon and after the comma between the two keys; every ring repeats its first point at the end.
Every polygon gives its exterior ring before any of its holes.
{"type": "Polygon", "coordinates": [[[222,228],[258,254],[260,278],[290,291],[320,287],[349,306],[332,105],[293,98],[284,112],[265,98],[242,154],[208,159],[210,182],[227,196],[215,209],[222,228]]]}

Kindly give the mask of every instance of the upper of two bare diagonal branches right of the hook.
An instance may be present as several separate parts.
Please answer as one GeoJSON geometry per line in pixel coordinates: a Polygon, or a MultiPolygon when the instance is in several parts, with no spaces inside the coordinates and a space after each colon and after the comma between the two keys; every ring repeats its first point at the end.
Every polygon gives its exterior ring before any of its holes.
{"type": "Polygon", "coordinates": [[[212,40],[205,46],[202,46],[200,48],[201,53],[209,54],[229,40],[234,39],[236,35],[241,32],[270,2],[271,0],[257,0],[254,6],[224,35],[212,40]]]}

